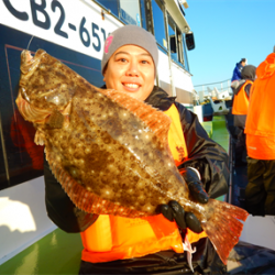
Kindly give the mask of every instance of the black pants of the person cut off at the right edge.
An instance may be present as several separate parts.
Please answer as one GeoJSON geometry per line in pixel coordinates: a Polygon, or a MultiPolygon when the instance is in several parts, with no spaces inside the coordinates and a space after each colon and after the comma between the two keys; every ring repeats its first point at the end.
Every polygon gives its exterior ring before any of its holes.
{"type": "Polygon", "coordinates": [[[275,215],[275,160],[248,158],[245,208],[253,216],[275,215]]]}

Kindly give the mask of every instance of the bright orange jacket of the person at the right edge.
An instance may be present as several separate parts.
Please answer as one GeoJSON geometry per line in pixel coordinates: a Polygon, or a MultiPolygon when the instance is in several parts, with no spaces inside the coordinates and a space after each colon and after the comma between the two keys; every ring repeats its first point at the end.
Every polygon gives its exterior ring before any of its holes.
{"type": "Polygon", "coordinates": [[[248,155],[275,160],[275,54],[270,54],[256,69],[245,123],[248,155]]]}

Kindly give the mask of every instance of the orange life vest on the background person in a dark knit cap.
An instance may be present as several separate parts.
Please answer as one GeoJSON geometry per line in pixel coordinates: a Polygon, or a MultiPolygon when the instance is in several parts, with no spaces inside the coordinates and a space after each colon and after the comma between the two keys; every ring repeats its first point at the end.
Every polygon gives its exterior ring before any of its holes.
{"type": "Polygon", "coordinates": [[[233,101],[233,107],[232,107],[233,114],[248,114],[250,99],[249,99],[244,88],[249,84],[253,84],[253,81],[246,80],[243,84],[243,86],[241,87],[238,95],[234,96],[234,101],[233,101]]]}

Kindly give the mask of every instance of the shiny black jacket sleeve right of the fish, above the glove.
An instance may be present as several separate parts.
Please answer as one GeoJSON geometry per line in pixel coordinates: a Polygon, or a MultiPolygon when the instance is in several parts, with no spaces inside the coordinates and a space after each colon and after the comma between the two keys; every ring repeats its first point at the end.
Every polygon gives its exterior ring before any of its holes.
{"type": "Polygon", "coordinates": [[[205,190],[211,198],[228,193],[229,157],[227,152],[212,141],[195,113],[176,102],[184,131],[188,158],[178,168],[194,167],[199,170],[205,190]]]}

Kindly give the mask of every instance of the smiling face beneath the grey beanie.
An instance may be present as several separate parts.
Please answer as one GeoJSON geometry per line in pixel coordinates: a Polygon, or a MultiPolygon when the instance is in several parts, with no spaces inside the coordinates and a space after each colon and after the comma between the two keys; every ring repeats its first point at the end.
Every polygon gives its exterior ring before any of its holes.
{"type": "Polygon", "coordinates": [[[155,65],[144,48],[125,45],[110,57],[103,76],[108,89],[145,100],[154,87],[155,65]]]}

